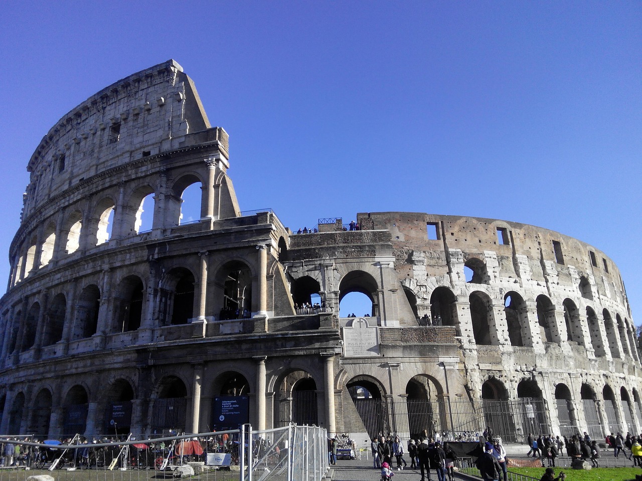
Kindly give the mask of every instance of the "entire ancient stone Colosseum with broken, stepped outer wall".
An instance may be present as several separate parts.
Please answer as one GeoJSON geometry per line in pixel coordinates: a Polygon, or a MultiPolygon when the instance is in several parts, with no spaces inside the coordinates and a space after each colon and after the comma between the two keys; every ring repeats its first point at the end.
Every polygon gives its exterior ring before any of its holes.
{"type": "Polygon", "coordinates": [[[173,60],[42,138],[0,301],[0,432],[642,432],[634,323],[605,253],[415,212],[293,232],[240,210],[228,140],[173,60]],[[341,317],[354,292],[372,310],[341,317]]]}

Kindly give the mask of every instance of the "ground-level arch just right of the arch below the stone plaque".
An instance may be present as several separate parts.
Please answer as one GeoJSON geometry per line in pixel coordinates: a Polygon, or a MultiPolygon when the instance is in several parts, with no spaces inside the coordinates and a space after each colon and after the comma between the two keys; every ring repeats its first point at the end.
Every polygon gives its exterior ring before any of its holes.
{"type": "Polygon", "coordinates": [[[408,429],[411,437],[420,439],[423,430],[432,437],[435,430],[447,430],[447,410],[441,394],[442,387],[429,376],[414,376],[406,384],[408,429]]]}

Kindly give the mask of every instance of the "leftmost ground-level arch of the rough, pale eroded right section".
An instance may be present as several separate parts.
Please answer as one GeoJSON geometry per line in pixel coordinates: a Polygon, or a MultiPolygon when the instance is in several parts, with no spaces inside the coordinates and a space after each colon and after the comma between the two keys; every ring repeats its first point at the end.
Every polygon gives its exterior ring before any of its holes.
{"type": "Polygon", "coordinates": [[[490,378],[482,384],[483,420],[492,432],[501,436],[504,442],[518,441],[515,422],[510,415],[508,389],[497,378],[490,378]]]}

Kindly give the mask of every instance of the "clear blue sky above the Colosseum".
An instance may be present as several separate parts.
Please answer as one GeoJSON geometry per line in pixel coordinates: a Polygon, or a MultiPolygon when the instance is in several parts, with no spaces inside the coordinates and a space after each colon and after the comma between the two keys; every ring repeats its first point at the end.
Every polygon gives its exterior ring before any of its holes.
{"type": "Polygon", "coordinates": [[[605,251],[642,323],[639,1],[5,1],[0,21],[3,283],[39,140],[174,58],[242,210],[544,226],[605,251]]]}

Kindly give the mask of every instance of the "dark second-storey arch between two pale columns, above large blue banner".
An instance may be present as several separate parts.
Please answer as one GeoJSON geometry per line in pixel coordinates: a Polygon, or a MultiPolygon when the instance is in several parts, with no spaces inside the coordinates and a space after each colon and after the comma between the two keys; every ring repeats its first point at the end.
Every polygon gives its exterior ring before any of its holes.
{"type": "Polygon", "coordinates": [[[219,319],[242,319],[252,316],[252,271],[238,260],[227,262],[216,274],[222,289],[219,319]]]}

